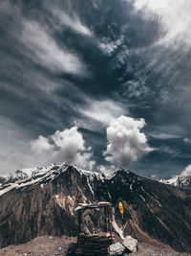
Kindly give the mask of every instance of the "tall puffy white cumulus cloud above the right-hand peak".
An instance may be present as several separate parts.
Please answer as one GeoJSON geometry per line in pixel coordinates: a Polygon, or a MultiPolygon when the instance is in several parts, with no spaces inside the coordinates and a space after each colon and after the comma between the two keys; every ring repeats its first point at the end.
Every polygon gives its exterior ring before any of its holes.
{"type": "Polygon", "coordinates": [[[120,116],[113,119],[107,128],[108,145],[103,152],[105,159],[128,167],[132,161],[144,153],[153,151],[147,145],[147,138],[140,129],[145,126],[144,119],[136,120],[132,117],[120,116]]]}

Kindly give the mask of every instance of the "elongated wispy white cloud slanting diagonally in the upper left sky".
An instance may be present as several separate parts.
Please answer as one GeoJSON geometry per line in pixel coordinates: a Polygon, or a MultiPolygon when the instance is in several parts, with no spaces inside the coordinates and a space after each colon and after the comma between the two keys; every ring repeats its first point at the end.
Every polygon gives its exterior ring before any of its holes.
{"type": "Polygon", "coordinates": [[[48,29],[35,21],[23,21],[23,31],[20,40],[31,51],[30,58],[40,62],[53,72],[68,72],[87,76],[88,72],[82,61],[76,55],[57,45],[48,29]]]}

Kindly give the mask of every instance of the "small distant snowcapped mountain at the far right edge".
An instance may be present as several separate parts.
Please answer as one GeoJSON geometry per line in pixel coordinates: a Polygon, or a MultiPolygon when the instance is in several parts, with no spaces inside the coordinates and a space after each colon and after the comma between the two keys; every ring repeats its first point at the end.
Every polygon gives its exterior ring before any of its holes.
{"type": "Polygon", "coordinates": [[[160,179],[160,182],[180,189],[191,189],[191,176],[189,175],[176,175],[169,179],[160,179]]]}

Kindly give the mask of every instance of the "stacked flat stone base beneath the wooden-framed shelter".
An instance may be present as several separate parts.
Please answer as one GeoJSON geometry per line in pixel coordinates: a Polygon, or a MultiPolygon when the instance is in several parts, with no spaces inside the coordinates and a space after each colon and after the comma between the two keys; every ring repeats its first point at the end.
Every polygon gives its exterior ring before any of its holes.
{"type": "Polygon", "coordinates": [[[112,237],[109,233],[86,235],[80,233],[78,237],[77,254],[81,255],[108,255],[108,247],[112,244],[112,237]]]}

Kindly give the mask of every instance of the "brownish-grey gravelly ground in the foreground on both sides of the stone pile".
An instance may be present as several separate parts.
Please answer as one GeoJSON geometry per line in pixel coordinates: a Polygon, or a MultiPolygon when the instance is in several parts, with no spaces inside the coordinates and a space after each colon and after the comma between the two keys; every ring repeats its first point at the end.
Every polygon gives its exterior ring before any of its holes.
{"type": "MultiPolygon", "coordinates": [[[[0,249],[0,256],[66,256],[70,244],[74,244],[76,238],[66,236],[38,237],[31,242],[19,245],[10,245],[0,249]]],[[[126,254],[132,256],[188,256],[191,254],[180,253],[167,245],[138,244],[136,253],[126,254]]]]}

